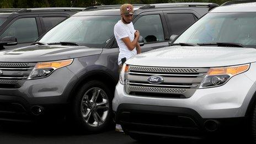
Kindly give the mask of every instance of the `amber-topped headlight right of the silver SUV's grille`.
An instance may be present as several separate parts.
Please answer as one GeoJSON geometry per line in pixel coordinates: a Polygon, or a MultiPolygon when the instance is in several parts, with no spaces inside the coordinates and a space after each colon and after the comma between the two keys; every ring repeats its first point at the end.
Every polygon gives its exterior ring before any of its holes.
{"type": "Polygon", "coordinates": [[[225,84],[231,77],[246,72],[250,65],[210,68],[200,88],[217,87],[225,84]]]}

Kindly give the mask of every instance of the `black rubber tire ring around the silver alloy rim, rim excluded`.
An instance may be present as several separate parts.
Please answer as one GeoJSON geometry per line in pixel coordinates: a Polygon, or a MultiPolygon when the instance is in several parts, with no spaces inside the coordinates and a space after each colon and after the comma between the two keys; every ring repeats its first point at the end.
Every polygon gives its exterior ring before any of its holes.
{"type": "Polygon", "coordinates": [[[104,84],[103,82],[100,81],[89,81],[85,84],[83,84],[83,86],[78,90],[77,94],[75,95],[73,102],[72,102],[72,119],[73,122],[75,122],[75,125],[77,126],[78,129],[84,131],[84,132],[99,132],[99,131],[103,131],[104,129],[106,129],[106,127],[108,127],[108,125],[111,122],[111,108],[112,108],[112,97],[113,95],[110,92],[110,89],[106,86],[106,84],[104,84]],[[87,90],[89,90],[90,88],[94,88],[94,87],[98,87],[101,88],[102,90],[104,90],[104,92],[106,93],[108,100],[109,100],[109,113],[108,116],[106,117],[106,120],[104,122],[104,124],[98,126],[98,127],[93,127],[90,126],[88,124],[86,124],[86,122],[83,120],[83,117],[81,115],[81,102],[82,102],[82,98],[84,93],[87,92],[87,90]]]}

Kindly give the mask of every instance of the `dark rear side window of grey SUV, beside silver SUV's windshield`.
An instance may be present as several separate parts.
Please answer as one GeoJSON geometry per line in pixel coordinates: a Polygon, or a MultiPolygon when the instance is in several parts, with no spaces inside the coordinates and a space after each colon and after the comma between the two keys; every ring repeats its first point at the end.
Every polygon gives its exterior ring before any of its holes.
{"type": "Polygon", "coordinates": [[[171,35],[179,35],[195,22],[194,14],[191,13],[168,13],[167,17],[169,20],[169,31],[172,32],[171,35]]]}

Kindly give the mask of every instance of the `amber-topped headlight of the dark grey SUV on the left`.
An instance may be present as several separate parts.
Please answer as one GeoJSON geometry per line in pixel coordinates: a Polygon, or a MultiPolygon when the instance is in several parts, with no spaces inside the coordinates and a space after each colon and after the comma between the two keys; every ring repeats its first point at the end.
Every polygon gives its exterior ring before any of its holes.
{"type": "Polygon", "coordinates": [[[73,59],[51,62],[38,62],[36,63],[33,71],[30,73],[28,79],[44,78],[49,76],[52,72],[58,68],[70,65],[73,59]]]}

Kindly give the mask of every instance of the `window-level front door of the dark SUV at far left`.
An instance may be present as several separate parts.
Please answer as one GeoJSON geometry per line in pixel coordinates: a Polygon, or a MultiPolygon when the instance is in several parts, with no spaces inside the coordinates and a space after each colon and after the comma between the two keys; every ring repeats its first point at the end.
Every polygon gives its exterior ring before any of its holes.
{"type": "Polygon", "coordinates": [[[28,46],[34,40],[38,39],[41,28],[38,15],[20,15],[15,17],[6,27],[1,31],[0,39],[6,36],[14,36],[17,38],[18,45],[4,46],[7,50],[16,47],[28,46]]]}

